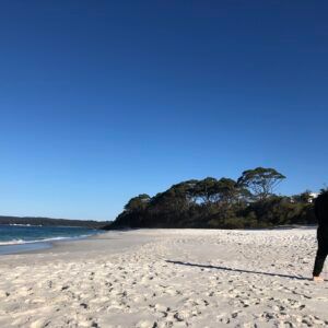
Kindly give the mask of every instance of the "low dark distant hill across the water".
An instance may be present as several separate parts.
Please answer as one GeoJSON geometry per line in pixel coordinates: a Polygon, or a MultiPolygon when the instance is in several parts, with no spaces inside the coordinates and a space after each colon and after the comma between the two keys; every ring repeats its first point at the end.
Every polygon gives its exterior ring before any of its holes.
{"type": "Polygon", "coordinates": [[[110,221],[84,221],[84,220],[67,220],[67,219],[49,219],[49,218],[28,218],[28,216],[2,216],[0,215],[0,224],[31,224],[43,226],[81,226],[89,229],[103,229],[110,221]]]}

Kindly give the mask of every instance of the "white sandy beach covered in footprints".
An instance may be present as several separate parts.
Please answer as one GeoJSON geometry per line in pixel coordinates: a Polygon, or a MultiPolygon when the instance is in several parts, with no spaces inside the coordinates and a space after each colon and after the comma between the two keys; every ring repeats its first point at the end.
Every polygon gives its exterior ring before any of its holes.
{"type": "Polygon", "coordinates": [[[314,229],[140,230],[1,256],[0,327],[327,326],[315,251],[314,229]]]}

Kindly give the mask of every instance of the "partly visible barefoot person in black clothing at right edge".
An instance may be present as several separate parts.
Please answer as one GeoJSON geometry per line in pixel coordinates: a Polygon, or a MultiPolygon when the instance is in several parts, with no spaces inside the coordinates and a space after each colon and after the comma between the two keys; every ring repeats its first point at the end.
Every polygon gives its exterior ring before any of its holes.
{"type": "Polygon", "coordinates": [[[313,270],[313,280],[323,281],[320,273],[328,255],[328,190],[323,191],[316,199],[315,214],[318,221],[318,249],[313,270]]]}

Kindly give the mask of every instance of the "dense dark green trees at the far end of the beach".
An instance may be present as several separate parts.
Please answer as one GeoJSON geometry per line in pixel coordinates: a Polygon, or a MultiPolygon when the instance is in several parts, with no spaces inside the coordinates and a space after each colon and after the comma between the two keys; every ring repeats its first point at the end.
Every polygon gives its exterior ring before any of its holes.
{"type": "Polygon", "coordinates": [[[314,224],[312,194],[277,196],[285,179],[274,168],[245,171],[231,178],[187,180],[154,197],[139,195],[106,229],[122,227],[270,227],[314,224]]]}

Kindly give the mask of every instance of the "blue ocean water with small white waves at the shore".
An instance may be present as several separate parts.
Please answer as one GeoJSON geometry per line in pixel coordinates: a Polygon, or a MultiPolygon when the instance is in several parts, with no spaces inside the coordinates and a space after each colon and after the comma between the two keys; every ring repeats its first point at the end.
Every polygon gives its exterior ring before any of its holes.
{"type": "Polygon", "coordinates": [[[49,248],[54,241],[83,238],[97,233],[97,230],[73,226],[0,224],[0,254],[49,248]]]}

